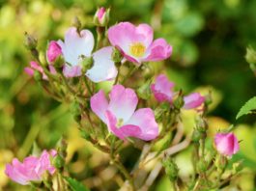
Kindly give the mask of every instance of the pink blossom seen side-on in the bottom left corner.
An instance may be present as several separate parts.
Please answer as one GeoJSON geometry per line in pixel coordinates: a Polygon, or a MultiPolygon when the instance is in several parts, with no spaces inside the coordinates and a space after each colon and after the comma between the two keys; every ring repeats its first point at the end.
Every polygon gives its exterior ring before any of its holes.
{"type": "Polygon", "coordinates": [[[43,150],[40,157],[28,156],[23,163],[14,158],[12,164],[6,165],[5,174],[22,185],[29,184],[30,181],[42,181],[46,171],[50,175],[55,173],[56,169],[50,164],[50,157],[56,154],[56,150],[43,150]]]}

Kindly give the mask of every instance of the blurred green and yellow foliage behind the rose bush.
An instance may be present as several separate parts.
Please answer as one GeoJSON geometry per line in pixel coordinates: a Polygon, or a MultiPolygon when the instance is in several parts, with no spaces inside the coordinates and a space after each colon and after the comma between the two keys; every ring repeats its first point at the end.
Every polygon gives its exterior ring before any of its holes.
{"type": "MultiPolygon", "coordinates": [[[[156,65],[166,68],[178,87],[187,93],[213,91],[210,134],[213,136],[229,123],[239,125],[235,132],[243,141],[237,157],[245,157],[247,168],[234,186],[253,190],[255,117],[235,122],[242,104],[256,95],[256,78],[244,60],[245,47],[256,47],[253,0],[0,0],[0,189],[19,188],[4,176],[5,164],[14,156],[26,156],[34,139],[40,148],[50,149],[62,134],[67,135],[69,168],[71,175],[79,179],[92,176],[96,173],[92,168],[105,162],[102,154],[92,151],[89,144],[82,145],[84,141],[77,138],[69,105],[54,101],[23,72],[32,58],[23,45],[25,31],[37,37],[44,50],[47,41],[63,38],[75,15],[92,29],[93,15],[100,6],[111,8],[111,24],[127,20],[149,23],[156,38],[165,38],[173,45],[171,59],[156,65]],[[101,159],[95,158],[97,153],[101,159]]],[[[192,121],[187,120],[187,131],[191,131],[192,121]]],[[[190,160],[189,150],[186,152],[177,156],[182,166],[190,160]]],[[[189,175],[189,167],[183,168],[183,176],[189,175]]],[[[168,186],[162,177],[155,189],[168,186]]]]}

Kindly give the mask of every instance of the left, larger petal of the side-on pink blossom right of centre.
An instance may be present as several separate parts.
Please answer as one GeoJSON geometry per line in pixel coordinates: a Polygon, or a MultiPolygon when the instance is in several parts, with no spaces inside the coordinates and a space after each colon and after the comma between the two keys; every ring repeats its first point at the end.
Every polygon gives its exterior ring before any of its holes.
{"type": "Polygon", "coordinates": [[[164,74],[160,74],[156,77],[156,83],[151,86],[151,90],[158,101],[172,102],[173,87],[174,83],[170,82],[164,74]]]}

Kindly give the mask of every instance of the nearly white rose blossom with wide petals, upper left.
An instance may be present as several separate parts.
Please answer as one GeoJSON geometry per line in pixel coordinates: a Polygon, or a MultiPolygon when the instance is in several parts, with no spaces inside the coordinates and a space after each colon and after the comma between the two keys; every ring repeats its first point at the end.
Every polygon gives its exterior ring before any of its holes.
{"type": "Polygon", "coordinates": [[[88,69],[86,75],[93,82],[112,80],[117,75],[117,69],[111,59],[113,48],[103,47],[92,54],[94,48],[94,36],[89,30],[82,30],[77,33],[75,27],[71,27],[65,35],[65,42],[58,41],[61,47],[66,65],[63,72],[66,77],[82,75],[83,57],[93,57],[94,65],[88,69]]]}

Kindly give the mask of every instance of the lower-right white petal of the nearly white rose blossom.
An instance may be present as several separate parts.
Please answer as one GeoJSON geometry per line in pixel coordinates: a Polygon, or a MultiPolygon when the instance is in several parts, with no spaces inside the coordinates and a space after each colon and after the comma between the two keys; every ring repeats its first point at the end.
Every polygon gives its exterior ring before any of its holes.
{"type": "Polygon", "coordinates": [[[103,47],[93,54],[94,66],[87,70],[86,75],[93,82],[112,80],[117,76],[117,68],[111,59],[112,46],[103,47]]]}

